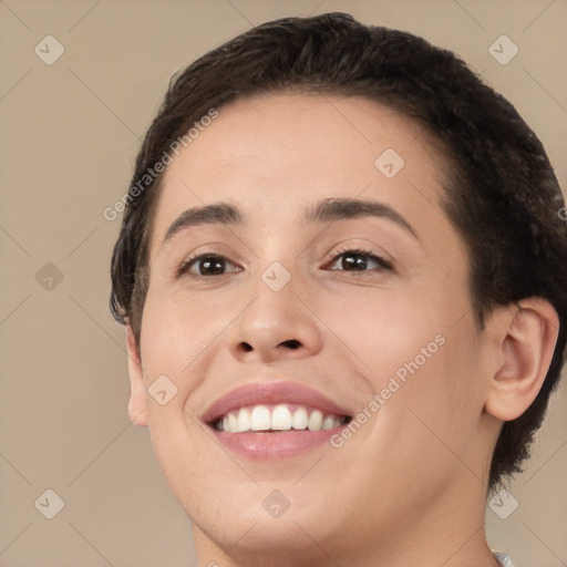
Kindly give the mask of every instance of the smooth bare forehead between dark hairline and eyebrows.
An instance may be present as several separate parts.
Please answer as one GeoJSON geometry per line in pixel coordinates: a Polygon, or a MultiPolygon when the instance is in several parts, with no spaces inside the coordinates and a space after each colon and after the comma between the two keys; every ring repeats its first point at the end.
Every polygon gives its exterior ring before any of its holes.
{"type": "Polygon", "coordinates": [[[422,125],[373,101],[322,93],[239,99],[218,109],[164,173],[151,255],[179,213],[217,202],[272,227],[318,200],[359,196],[421,208],[425,221],[439,221],[443,162],[422,125]]]}

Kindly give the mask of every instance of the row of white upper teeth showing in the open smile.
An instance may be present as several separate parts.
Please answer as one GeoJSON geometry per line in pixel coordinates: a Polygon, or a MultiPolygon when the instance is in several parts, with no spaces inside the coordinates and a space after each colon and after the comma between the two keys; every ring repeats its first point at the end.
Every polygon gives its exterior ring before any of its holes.
{"type": "Polygon", "coordinates": [[[320,410],[312,410],[310,414],[303,406],[293,412],[284,403],[274,406],[270,411],[267,405],[240,408],[227,413],[218,422],[217,429],[227,433],[243,433],[246,431],[326,431],[339,427],[343,420],[334,414],[323,414],[320,410]]]}

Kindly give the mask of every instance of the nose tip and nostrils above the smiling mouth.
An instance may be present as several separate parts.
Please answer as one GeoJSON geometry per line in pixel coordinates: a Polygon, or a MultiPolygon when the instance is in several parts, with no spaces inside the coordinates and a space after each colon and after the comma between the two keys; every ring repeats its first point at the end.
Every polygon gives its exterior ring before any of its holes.
{"type": "Polygon", "coordinates": [[[254,299],[233,327],[230,349],[238,360],[274,362],[317,354],[322,347],[321,322],[290,281],[274,291],[262,280],[254,299]]]}

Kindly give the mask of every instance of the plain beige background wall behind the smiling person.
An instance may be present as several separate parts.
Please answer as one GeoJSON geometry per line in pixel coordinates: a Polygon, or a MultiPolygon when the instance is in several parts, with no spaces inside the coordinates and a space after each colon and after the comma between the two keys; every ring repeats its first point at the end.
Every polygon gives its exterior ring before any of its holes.
{"type": "MultiPolygon", "coordinates": [[[[565,0],[0,1],[0,566],[196,565],[147,432],[128,423],[124,332],[107,311],[118,221],[102,212],[127,189],[175,71],[252,24],[334,10],[460,53],[567,187],[565,0]],[[52,65],[34,53],[48,34],[65,50],[52,65]],[[519,48],[507,65],[488,53],[502,34],[519,48]],[[47,262],[63,275],[51,290],[35,279],[47,262]],[[34,507],[48,488],[65,504],[51,520],[34,507]]],[[[517,567],[567,565],[566,392],[509,486],[518,508],[487,509],[489,543],[517,567]]]]}

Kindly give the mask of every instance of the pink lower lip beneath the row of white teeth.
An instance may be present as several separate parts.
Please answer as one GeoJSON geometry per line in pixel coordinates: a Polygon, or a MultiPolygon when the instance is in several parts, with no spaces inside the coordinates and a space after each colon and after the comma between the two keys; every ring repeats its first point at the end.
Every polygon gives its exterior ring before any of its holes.
{"type": "Polygon", "coordinates": [[[330,439],[344,427],[332,430],[309,431],[289,430],[279,433],[227,433],[210,427],[215,439],[235,453],[252,460],[274,460],[302,455],[328,443],[330,439]]]}

